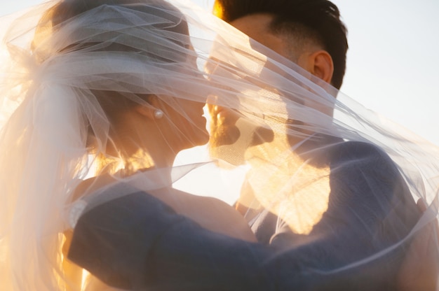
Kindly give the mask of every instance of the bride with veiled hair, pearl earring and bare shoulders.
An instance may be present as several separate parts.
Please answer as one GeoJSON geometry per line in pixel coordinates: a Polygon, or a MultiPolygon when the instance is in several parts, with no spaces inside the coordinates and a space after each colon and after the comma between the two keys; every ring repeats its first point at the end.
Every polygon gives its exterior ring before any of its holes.
{"type": "Polygon", "coordinates": [[[171,187],[177,153],[208,142],[203,106],[215,94],[177,8],[50,1],[15,24],[15,83],[2,92],[4,114],[13,108],[0,144],[2,290],[85,288],[65,255],[75,211],[96,192],[149,190],[203,227],[255,241],[229,205],[171,187]]]}

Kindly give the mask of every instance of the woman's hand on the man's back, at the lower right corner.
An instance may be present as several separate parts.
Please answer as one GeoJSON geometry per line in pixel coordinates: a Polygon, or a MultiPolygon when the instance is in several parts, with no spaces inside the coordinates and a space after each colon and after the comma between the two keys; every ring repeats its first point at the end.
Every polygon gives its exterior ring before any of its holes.
{"type": "MultiPolygon", "coordinates": [[[[421,199],[417,203],[424,212],[421,199]]],[[[439,225],[434,220],[415,234],[397,278],[398,291],[435,291],[439,275],[439,225]]]]}

